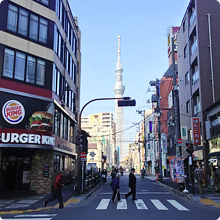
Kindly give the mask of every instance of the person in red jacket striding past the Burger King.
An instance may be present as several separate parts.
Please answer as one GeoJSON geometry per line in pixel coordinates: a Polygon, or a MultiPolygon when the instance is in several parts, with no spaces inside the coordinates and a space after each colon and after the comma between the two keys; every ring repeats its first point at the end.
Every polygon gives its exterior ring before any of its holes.
{"type": "Polygon", "coordinates": [[[62,197],[62,188],[63,188],[63,171],[60,171],[56,177],[53,193],[51,196],[43,203],[44,207],[47,207],[48,202],[54,201],[55,199],[59,202],[59,209],[63,209],[63,197],[62,197]]]}

